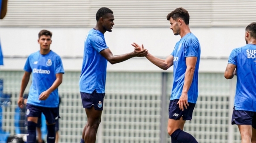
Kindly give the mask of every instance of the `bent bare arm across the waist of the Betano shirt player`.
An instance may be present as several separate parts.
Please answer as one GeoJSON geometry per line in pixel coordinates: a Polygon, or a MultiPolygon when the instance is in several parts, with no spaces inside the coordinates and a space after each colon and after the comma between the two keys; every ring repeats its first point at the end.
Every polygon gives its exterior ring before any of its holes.
{"type": "Polygon", "coordinates": [[[56,80],[53,82],[53,85],[47,89],[46,91],[42,92],[39,96],[39,100],[46,100],[50,93],[53,92],[53,90],[55,90],[56,88],[58,88],[62,82],[62,75],[63,73],[57,73],[56,74],[56,80]]]}

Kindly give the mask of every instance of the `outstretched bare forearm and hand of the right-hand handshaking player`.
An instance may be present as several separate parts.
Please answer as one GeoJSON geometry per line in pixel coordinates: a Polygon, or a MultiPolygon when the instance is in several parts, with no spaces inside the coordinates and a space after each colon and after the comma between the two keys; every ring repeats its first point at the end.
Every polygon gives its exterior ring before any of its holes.
{"type": "MultiPolygon", "coordinates": [[[[135,47],[135,50],[144,50],[144,46],[139,46],[139,44],[137,43],[133,43],[132,46],[135,47]]],[[[166,60],[164,59],[160,59],[158,57],[154,57],[151,54],[147,54],[145,56],[149,61],[151,61],[151,63],[153,63],[154,65],[158,66],[159,68],[163,69],[163,70],[167,70],[168,68],[170,68],[173,65],[173,56],[169,55],[166,60]]]]}

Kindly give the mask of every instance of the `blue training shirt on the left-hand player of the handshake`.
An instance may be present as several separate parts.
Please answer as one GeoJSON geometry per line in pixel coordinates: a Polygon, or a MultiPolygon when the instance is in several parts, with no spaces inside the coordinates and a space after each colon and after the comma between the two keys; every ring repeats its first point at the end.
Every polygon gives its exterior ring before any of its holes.
{"type": "Polygon", "coordinates": [[[105,93],[107,60],[100,52],[106,48],[104,34],[91,29],[84,42],[82,73],[79,80],[80,91],[84,93],[105,93]]]}

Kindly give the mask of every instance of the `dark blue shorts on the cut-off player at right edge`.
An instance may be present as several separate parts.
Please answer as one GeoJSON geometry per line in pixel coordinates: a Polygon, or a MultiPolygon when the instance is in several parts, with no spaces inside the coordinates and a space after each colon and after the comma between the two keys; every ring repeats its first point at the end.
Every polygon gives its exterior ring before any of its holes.
{"type": "Polygon", "coordinates": [[[256,112],[236,110],[233,107],[231,124],[252,125],[252,128],[256,129],[256,112]]]}

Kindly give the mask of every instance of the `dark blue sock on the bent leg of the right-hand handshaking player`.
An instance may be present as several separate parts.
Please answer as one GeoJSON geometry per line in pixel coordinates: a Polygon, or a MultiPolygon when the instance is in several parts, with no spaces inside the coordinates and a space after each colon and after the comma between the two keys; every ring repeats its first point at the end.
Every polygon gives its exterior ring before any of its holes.
{"type": "Polygon", "coordinates": [[[184,132],[181,129],[177,129],[171,135],[172,143],[198,143],[196,139],[188,132],[184,132]]]}

